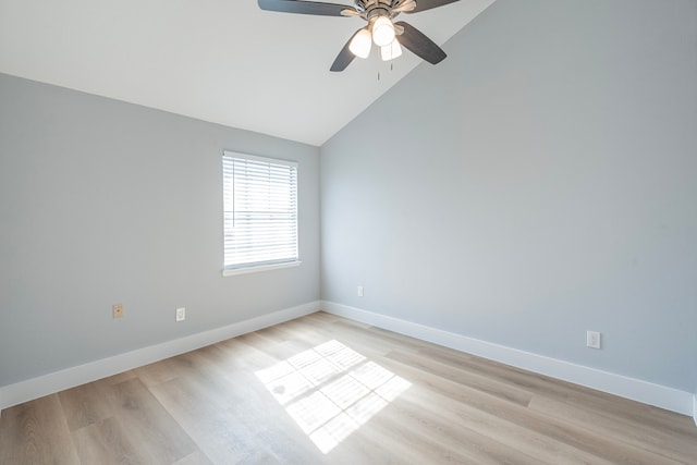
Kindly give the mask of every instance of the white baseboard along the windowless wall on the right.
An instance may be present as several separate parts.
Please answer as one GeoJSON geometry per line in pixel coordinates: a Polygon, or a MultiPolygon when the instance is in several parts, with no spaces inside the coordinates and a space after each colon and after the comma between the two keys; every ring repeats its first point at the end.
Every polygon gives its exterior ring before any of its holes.
{"type": "Polygon", "coordinates": [[[333,302],[323,301],[322,309],[329,314],[350,318],[423,341],[444,345],[457,351],[467,352],[540,375],[597,389],[682,415],[693,415],[695,423],[697,423],[697,400],[695,400],[696,397],[689,392],[492,344],[490,342],[333,302]]]}

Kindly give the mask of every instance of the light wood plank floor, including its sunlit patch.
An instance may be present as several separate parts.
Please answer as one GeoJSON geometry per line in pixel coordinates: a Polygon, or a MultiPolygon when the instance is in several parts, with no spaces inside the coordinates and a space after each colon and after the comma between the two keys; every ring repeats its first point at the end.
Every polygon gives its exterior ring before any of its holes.
{"type": "Polygon", "coordinates": [[[211,463],[697,464],[697,427],[323,313],[2,412],[2,465],[211,463]]]}

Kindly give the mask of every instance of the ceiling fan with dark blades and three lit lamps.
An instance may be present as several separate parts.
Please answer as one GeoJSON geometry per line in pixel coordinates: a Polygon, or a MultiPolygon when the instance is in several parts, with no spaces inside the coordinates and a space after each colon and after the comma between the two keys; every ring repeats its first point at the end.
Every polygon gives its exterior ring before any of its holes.
{"type": "Polygon", "coordinates": [[[354,5],[304,0],[258,0],[259,8],[283,13],[316,14],[321,16],[358,16],[368,25],[356,30],[341,49],[330,71],[344,71],[355,57],[368,58],[372,44],[380,48],[383,61],[402,54],[406,47],[431,64],[441,62],[445,52],[416,27],[400,21],[400,13],[418,13],[458,0],[355,0],[354,5]],[[399,39],[398,39],[399,36],[399,39]]]}

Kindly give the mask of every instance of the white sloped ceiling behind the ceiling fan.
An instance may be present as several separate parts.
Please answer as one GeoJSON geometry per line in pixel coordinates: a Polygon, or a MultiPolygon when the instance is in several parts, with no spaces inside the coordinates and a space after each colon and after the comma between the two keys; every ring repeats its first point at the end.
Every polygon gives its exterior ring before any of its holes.
{"type": "MultiPolygon", "coordinates": [[[[493,1],[399,20],[442,45],[493,1]]],[[[329,72],[364,24],[256,0],[0,0],[0,72],[319,146],[421,63],[374,49],[329,72]]]]}

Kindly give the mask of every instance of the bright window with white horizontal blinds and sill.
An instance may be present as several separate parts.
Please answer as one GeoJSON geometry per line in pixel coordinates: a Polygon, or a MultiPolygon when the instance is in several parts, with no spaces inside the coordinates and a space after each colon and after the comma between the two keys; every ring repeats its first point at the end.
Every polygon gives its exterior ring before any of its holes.
{"type": "Polygon", "coordinates": [[[223,274],[298,265],[297,163],[224,151],[223,274]]]}

